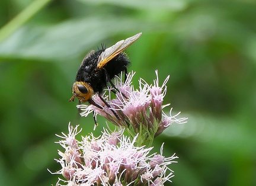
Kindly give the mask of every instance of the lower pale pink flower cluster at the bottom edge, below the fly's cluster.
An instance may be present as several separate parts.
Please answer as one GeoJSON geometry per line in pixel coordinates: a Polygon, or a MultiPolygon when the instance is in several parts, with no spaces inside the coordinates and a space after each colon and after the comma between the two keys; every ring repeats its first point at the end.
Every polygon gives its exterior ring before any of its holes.
{"type": "Polygon", "coordinates": [[[149,155],[152,147],[135,146],[135,138],[119,132],[102,132],[100,137],[75,137],[78,126],[69,126],[69,134],[59,136],[64,152],[59,151],[62,169],[53,174],[61,174],[56,185],[164,185],[174,176],[167,166],[175,163],[177,156],[169,158],[160,154],[149,155]],[[71,150],[72,149],[72,150],[71,150]]]}

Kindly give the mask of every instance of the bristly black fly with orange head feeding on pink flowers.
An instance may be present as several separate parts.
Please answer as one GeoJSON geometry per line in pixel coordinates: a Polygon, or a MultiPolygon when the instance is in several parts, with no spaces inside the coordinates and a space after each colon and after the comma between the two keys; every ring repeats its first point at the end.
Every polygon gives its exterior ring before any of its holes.
{"type": "MultiPolygon", "coordinates": [[[[129,37],[126,40],[118,41],[113,46],[107,49],[100,49],[97,52],[91,50],[87,56],[84,57],[82,63],[76,74],[75,83],[72,86],[73,96],[69,101],[74,101],[75,97],[78,98],[79,103],[89,102],[89,104],[95,105],[101,108],[92,100],[92,95],[97,93],[101,100],[107,107],[110,107],[108,103],[101,97],[103,88],[108,83],[118,91],[114,86],[112,79],[115,76],[119,76],[121,72],[124,72],[125,77],[127,75],[127,67],[130,65],[130,61],[124,50],[133,44],[142,33],[129,37]]],[[[116,92],[113,90],[113,92],[116,92]]],[[[113,111],[113,110],[112,110],[113,111]]],[[[114,112],[114,115],[119,118],[114,112]]],[[[94,117],[95,124],[97,124],[94,117]]]]}

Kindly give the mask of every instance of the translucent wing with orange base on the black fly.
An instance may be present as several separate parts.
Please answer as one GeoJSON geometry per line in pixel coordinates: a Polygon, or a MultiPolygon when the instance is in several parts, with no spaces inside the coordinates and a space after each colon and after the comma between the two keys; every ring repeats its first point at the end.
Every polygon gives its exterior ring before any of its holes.
{"type": "Polygon", "coordinates": [[[126,40],[118,41],[113,46],[105,49],[103,53],[100,54],[98,58],[98,65],[97,68],[103,68],[104,65],[106,65],[111,59],[116,57],[118,54],[123,52],[127,47],[129,47],[131,44],[133,44],[142,33],[136,34],[135,36],[129,37],[126,40]]]}

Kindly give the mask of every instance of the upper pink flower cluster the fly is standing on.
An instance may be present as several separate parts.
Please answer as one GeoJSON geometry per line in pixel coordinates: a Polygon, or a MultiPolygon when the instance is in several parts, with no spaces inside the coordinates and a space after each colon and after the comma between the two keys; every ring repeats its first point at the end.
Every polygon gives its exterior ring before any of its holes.
{"type": "Polygon", "coordinates": [[[78,108],[83,111],[81,116],[88,116],[89,113],[95,111],[116,126],[124,127],[131,137],[135,137],[139,133],[138,144],[149,144],[150,146],[153,138],[161,134],[172,123],[185,123],[187,120],[187,118],[177,118],[180,113],[172,116],[172,108],[169,116],[164,113],[163,108],[170,105],[163,105],[169,76],[162,85],[159,85],[157,70],[155,73],[156,79],[153,84],[150,85],[140,78],[138,89],[132,85],[135,72],[130,72],[125,82],[122,82],[122,76],[117,77],[114,82],[116,88],[119,89],[116,97],[111,98],[111,88],[108,88],[103,95],[110,107],[107,107],[98,95],[94,95],[94,101],[102,109],[94,105],[78,105],[78,108]],[[114,112],[119,118],[115,116],[114,112]]]}

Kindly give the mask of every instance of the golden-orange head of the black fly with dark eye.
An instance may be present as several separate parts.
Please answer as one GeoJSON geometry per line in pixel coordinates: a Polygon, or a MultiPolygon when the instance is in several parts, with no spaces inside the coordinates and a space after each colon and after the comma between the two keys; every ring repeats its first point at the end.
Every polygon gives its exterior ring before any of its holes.
{"type": "Polygon", "coordinates": [[[87,102],[94,95],[94,90],[87,82],[76,81],[72,86],[72,93],[73,96],[69,101],[73,101],[76,97],[81,102],[87,102]]]}

